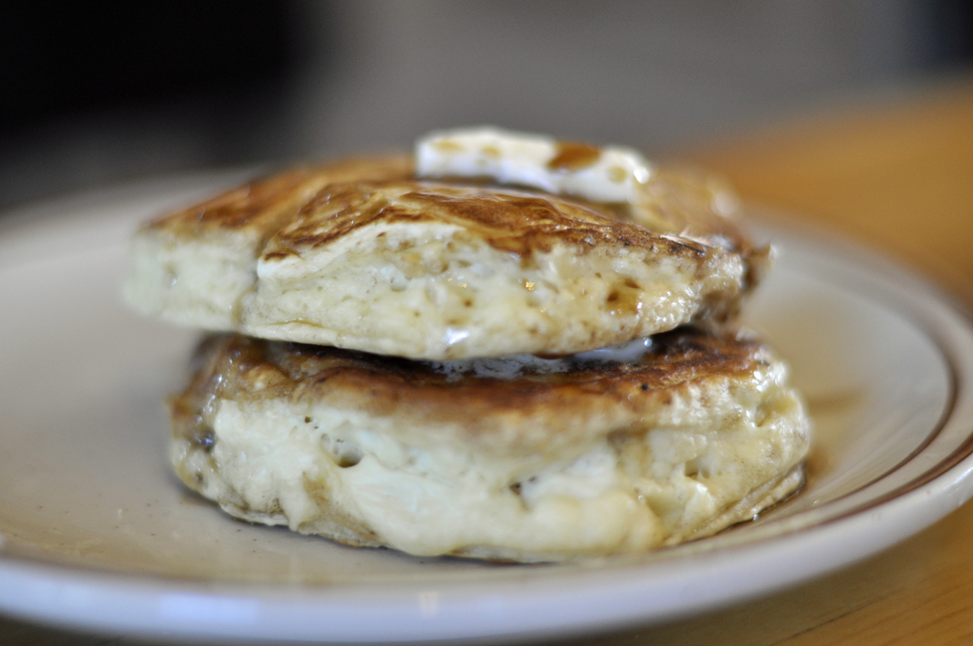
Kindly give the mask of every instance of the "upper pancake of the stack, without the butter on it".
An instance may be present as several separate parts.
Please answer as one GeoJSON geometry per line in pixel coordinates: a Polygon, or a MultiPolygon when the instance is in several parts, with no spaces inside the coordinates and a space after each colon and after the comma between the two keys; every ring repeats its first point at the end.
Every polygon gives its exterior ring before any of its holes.
{"type": "Polygon", "coordinates": [[[603,204],[335,162],[147,224],[126,296],[206,330],[410,358],[571,354],[737,311],[767,251],[725,195],[668,169],[603,204]]]}

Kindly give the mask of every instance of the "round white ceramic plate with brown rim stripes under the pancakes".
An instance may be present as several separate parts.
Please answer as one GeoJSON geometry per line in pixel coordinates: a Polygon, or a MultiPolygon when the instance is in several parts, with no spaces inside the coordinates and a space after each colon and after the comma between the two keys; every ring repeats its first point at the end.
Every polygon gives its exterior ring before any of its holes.
{"type": "Polygon", "coordinates": [[[973,492],[973,331],[944,295],[827,238],[781,249],[748,320],[793,365],[806,489],[649,556],[512,566],[357,550],[231,520],[168,475],[162,398],[196,335],[120,304],[136,223],[235,178],[0,219],[0,611],[176,637],[434,640],[647,624],[874,554],[973,492]]]}

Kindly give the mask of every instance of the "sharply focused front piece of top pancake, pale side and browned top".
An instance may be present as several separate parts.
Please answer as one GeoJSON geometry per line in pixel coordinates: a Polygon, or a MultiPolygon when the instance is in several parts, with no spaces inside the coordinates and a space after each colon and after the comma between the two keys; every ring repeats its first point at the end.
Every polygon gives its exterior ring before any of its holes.
{"type": "Polygon", "coordinates": [[[722,320],[747,281],[739,254],[555,197],[415,183],[331,187],[257,273],[242,332],[427,359],[570,354],[722,320]]]}

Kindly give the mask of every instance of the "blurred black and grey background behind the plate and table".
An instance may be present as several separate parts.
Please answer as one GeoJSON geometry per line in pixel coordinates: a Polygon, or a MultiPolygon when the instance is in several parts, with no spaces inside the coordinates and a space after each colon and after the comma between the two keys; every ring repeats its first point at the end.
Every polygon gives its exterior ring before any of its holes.
{"type": "Polygon", "coordinates": [[[0,3],[0,208],[495,124],[666,155],[973,69],[973,3],[0,3]]]}

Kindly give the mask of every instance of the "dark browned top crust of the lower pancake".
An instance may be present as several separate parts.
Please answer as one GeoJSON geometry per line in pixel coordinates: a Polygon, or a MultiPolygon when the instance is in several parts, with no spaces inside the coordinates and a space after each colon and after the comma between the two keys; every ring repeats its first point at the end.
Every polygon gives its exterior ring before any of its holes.
{"type": "Polygon", "coordinates": [[[758,341],[685,329],[658,335],[636,363],[581,363],[553,374],[527,368],[511,379],[457,376],[420,361],[233,334],[207,338],[197,356],[200,369],[170,410],[177,433],[200,447],[212,441],[201,420],[216,398],[332,402],[372,415],[402,415],[416,426],[455,424],[476,436],[510,428],[513,419],[606,408],[648,414],[670,406],[688,386],[745,378],[770,364],[758,341]]]}

